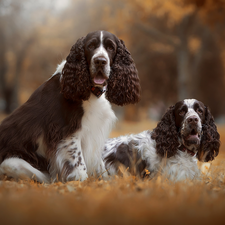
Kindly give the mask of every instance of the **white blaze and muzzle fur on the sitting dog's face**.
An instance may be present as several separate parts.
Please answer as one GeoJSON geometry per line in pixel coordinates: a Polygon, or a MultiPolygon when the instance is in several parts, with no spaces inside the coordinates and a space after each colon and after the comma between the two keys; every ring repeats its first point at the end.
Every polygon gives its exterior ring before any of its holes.
{"type": "MultiPolygon", "coordinates": [[[[108,52],[106,51],[106,49],[104,48],[103,45],[103,31],[100,32],[100,46],[95,50],[95,54],[93,55],[92,59],[91,59],[91,65],[90,65],[90,72],[91,74],[96,74],[97,72],[97,68],[95,66],[94,60],[96,58],[104,58],[106,60],[106,64],[104,65],[103,69],[103,73],[106,77],[109,77],[110,75],[110,60],[109,60],[109,56],[108,56],[108,52]]],[[[96,76],[94,78],[94,82],[96,84],[102,84],[104,83],[104,79],[102,76],[96,76]]]]}

